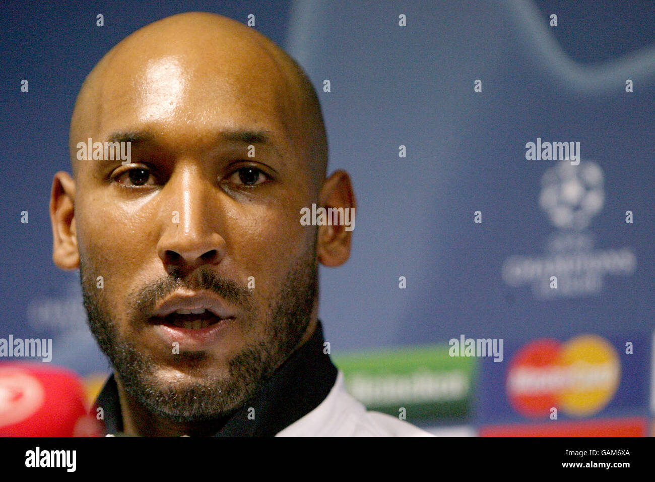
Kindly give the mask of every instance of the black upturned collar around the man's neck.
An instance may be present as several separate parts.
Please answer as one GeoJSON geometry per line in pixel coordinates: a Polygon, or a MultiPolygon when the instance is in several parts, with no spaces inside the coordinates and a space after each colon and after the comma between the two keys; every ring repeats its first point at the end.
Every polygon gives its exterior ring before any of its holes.
{"type": "MultiPolygon", "coordinates": [[[[324,353],[323,344],[323,327],[318,321],[311,338],[280,365],[252,399],[227,418],[214,437],[272,437],[318,407],[337,379],[337,368],[324,353]],[[251,407],[255,409],[254,419],[251,407]]],[[[122,432],[121,403],[113,373],[95,407],[103,408],[107,433],[122,432]]]]}

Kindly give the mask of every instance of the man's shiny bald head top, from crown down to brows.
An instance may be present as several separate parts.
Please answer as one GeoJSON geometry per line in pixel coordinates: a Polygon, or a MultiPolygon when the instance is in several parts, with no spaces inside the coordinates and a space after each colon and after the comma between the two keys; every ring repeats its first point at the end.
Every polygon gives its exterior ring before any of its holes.
{"type": "Polygon", "coordinates": [[[326,132],[316,91],[298,64],[230,18],[206,12],[164,18],[122,40],[86,77],[71,119],[73,173],[77,177],[77,144],[105,140],[121,123],[128,131],[175,123],[239,129],[257,123],[245,117],[258,111],[276,117],[290,154],[305,159],[320,185],[326,132]],[[237,103],[247,104],[245,111],[234,111],[237,103]],[[228,112],[233,125],[208,125],[228,112]]]}

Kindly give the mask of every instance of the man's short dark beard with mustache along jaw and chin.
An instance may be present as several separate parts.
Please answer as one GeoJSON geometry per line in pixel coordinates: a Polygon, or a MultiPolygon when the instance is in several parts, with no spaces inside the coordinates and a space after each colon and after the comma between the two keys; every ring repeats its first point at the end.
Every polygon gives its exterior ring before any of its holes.
{"type": "MultiPolygon", "coordinates": [[[[227,302],[242,308],[244,329],[261,325],[261,339],[243,346],[227,360],[227,376],[195,376],[193,384],[162,382],[157,363],[139,350],[128,337],[121,336],[107,309],[103,290],[95,285],[97,270],[80,263],[84,308],[88,324],[100,349],[109,357],[123,388],[153,414],[173,422],[194,423],[219,420],[238,409],[262,388],[273,372],[299,346],[307,332],[318,298],[318,266],[315,249],[281,278],[278,292],[261,310],[253,309],[252,292],[210,271],[198,271],[182,279],[172,273],[130,294],[132,313],[152,313],[155,304],[176,289],[213,291],[227,302]]],[[[147,323],[147,321],[143,321],[147,323]]],[[[194,374],[210,360],[204,351],[180,351],[174,355],[194,374]]]]}

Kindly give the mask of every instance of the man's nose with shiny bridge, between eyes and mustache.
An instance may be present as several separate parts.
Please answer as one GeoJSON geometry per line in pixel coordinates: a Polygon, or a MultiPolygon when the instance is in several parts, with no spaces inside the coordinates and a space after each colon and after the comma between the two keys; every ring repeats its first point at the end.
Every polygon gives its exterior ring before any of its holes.
{"type": "Polygon", "coordinates": [[[193,271],[218,264],[225,256],[225,239],[219,234],[220,209],[212,186],[193,169],[175,172],[164,186],[162,235],[157,254],[166,271],[193,271]]]}

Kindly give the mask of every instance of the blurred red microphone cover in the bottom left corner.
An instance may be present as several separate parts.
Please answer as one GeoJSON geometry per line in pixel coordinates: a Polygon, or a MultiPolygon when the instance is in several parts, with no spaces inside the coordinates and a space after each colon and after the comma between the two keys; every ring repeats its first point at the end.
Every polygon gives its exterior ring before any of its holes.
{"type": "Polygon", "coordinates": [[[100,437],[77,375],[37,363],[0,363],[0,436],[100,437]]]}

